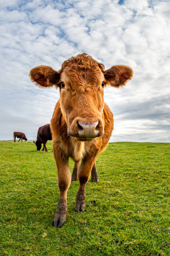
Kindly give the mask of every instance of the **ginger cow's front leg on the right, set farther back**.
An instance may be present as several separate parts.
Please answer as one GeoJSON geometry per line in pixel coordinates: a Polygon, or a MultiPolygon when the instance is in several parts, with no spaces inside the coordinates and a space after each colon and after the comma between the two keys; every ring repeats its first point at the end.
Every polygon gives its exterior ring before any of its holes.
{"type": "Polygon", "coordinates": [[[94,160],[83,159],[78,169],[79,189],[76,195],[75,212],[83,212],[85,209],[85,187],[93,164],[94,160]]]}

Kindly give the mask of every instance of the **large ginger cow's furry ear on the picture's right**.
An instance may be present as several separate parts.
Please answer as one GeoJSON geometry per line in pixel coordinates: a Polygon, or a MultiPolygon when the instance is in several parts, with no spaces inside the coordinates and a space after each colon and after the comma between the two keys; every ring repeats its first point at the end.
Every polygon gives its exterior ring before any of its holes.
{"type": "Polygon", "coordinates": [[[104,72],[106,84],[113,87],[121,87],[133,77],[133,70],[124,65],[112,66],[104,72]]]}

